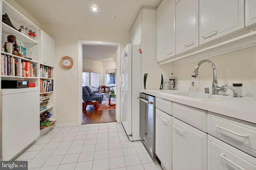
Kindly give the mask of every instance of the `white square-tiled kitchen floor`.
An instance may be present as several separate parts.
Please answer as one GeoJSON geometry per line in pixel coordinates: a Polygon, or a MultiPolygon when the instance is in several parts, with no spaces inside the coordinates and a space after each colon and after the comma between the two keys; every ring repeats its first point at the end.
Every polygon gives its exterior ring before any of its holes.
{"type": "Polygon", "coordinates": [[[29,170],[161,170],[116,122],[54,128],[16,160],[27,160],[29,170]]]}

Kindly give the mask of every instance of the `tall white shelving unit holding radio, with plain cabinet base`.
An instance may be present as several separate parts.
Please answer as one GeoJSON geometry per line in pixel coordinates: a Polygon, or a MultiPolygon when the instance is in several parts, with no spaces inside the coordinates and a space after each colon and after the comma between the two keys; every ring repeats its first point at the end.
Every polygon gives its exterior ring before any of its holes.
{"type": "Polygon", "coordinates": [[[8,14],[13,25],[12,27],[4,21],[0,25],[0,83],[2,80],[16,80],[28,81],[34,85],[28,88],[2,88],[1,84],[1,160],[12,160],[40,135],[38,126],[40,29],[6,1],[0,0],[0,4],[1,13],[8,14]],[[20,25],[34,30],[36,37],[29,37],[16,30],[20,28],[20,25]],[[8,35],[16,37],[18,49],[23,50],[23,56],[17,53],[7,53],[2,49],[7,42],[8,35]]]}

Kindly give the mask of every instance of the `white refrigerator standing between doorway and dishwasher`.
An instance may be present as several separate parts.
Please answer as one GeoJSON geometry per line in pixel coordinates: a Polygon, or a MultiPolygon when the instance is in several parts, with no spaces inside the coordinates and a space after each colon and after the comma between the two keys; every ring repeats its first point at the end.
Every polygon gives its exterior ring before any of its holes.
{"type": "Polygon", "coordinates": [[[121,54],[120,118],[130,141],[140,140],[141,45],[128,44],[121,54]]]}

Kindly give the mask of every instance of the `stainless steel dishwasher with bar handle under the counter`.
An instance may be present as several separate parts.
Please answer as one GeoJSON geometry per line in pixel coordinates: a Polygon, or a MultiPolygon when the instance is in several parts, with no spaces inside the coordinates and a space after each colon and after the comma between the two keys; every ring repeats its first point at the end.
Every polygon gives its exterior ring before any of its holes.
{"type": "Polygon", "coordinates": [[[155,157],[155,97],[140,93],[140,138],[144,146],[155,157]]]}

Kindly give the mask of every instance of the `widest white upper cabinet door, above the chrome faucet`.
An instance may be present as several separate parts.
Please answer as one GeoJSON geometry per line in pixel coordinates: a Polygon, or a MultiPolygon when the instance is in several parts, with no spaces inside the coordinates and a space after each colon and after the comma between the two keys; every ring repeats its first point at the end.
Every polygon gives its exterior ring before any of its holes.
{"type": "Polygon", "coordinates": [[[244,28],[244,0],[199,2],[200,45],[244,28]]]}

